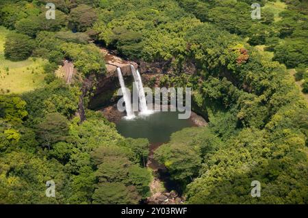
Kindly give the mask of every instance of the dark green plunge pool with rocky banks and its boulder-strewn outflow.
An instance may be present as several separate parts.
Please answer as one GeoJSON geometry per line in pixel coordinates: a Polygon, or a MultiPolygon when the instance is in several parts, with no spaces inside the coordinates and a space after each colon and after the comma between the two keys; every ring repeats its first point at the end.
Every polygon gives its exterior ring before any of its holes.
{"type": "Polygon", "coordinates": [[[147,138],[150,141],[149,156],[146,167],[153,174],[150,184],[151,196],[144,202],[146,204],[181,204],[185,201],[181,197],[181,187],[177,182],[170,180],[170,174],[164,165],[154,159],[154,153],[159,146],[168,143],[170,135],[186,127],[205,126],[207,122],[192,112],[190,119],[179,120],[171,112],[157,112],[147,118],[134,120],[121,120],[125,113],[120,113],[116,107],[102,109],[105,117],[116,123],[118,132],[124,137],[147,138]],[[169,115],[170,114],[170,115],[169,115]],[[156,116],[156,117],[155,117],[156,116]]]}

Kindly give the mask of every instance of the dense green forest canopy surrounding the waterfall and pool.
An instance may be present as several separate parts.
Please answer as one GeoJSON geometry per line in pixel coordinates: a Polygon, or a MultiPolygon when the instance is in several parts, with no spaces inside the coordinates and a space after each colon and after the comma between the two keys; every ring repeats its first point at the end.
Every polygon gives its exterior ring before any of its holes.
{"type": "Polygon", "coordinates": [[[0,95],[0,204],[138,204],[151,195],[149,141],[118,134],[88,109],[91,93],[79,118],[82,81],[106,73],[96,44],[166,62],[158,85],[192,87],[209,125],[173,133],[154,155],[186,203],[308,203],[307,1],[1,0],[0,25],[9,31],[0,62],[48,61],[42,87],[0,95]],[[55,20],[44,18],[50,2],[55,20]],[[260,20],[251,19],[255,2],[260,20]],[[63,59],[76,83],[55,77],[63,59]],[[47,180],[56,197],[45,196],[47,180]],[[251,197],[253,180],[262,197],[251,197]]]}

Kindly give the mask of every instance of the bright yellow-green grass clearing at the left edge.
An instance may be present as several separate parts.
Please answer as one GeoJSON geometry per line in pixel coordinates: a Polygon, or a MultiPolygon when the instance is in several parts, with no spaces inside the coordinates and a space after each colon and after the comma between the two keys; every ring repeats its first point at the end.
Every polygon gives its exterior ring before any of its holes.
{"type": "Polygon", "coordinates": [[[30,57],[21,62],[11,62],[4,57],[5,36],[10,31],[0,27],[0,94],[21,94],[44,85],[42,66],[47,61],[30,57]]]}

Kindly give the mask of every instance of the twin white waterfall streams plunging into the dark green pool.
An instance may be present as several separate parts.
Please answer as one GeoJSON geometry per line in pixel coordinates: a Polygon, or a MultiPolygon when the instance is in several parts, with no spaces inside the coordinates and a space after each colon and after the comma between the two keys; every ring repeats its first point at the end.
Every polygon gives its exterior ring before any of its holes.
{"type": "MultiPolygon", "coordinates": [[[[127,87],[125,87],[123,75],[120,68],[117,68],[116,71],[118,72],[118,80],[120,81],[121,90],[123,92],[123,98],[125,102],[125,110],[127,113],[127,118],[133,118],[135,114],[133,113],[133,110],[131,108],[131,96],[130,92],[127,92],[127,87]]],[[[148,108],[146,107],[146,98],[144,94],[144,89],[142,85],[142,80],[140,77],[139,70],[131,64],[131,73],[133,74],[133,79],[136,84],[138,97],[139,97],[139,109],[141,114],[147,114],[149,113],[148,108]]]]}

